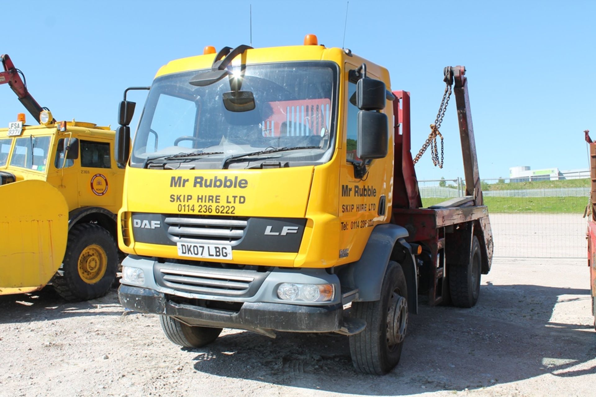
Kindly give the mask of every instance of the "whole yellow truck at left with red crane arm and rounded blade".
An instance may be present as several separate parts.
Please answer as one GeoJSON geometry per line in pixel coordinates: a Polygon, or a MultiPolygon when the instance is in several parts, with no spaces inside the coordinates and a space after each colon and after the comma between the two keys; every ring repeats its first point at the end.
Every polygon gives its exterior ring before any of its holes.
{"type": "Polygon", "coordinates": [[[25,115],[0,129],[0,295],[51,283],[70,301],[98,298],[119,265],[116,213],[124,169],[112,157],[114,131],[56,121],[27,90],[8,55],[7,83],[40,124],[25,115]]]}

